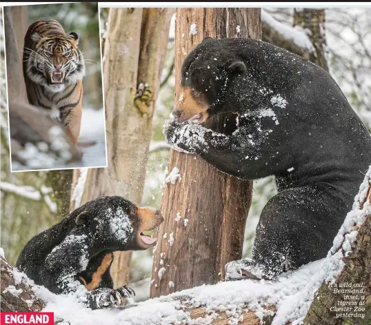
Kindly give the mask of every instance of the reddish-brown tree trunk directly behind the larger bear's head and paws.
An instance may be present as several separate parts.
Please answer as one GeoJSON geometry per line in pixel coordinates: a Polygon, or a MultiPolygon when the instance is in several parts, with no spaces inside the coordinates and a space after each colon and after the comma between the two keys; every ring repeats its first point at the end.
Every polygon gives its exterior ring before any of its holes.
{"type": "MultiPolygon", "coordinates": [[[[260,9],[177,9],[176,97],[183,59],[204,37],[259,39],[260,9]],[[196,35],[189,32],[192,23],[197,24],[196,35]]],[[[232,130],[224,125],[233,118],[228,117],[212,119],[207,126],[229,134],[232,130]]],[[[165,222],[160,226],[154,255],[151,297],[223,279],[225,263],[241,258],[251,203],[251,181],[225,175],[200,157],[170,150],[168,170],[174,167],[179,168],[181,181],[166,184],[163,193],[161,210],[165,222]]]]}

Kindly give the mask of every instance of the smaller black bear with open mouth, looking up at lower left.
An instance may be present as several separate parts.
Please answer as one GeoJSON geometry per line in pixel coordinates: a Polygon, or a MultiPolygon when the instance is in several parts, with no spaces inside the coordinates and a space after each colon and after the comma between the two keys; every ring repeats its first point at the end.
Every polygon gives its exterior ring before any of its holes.
{"type": "Polygon", "coordinates": [[[138,208],[123,197],[94,199],[30,239],[16,266],[52,293],[77,291],[83,284],[92,309],[119,306],[134,291],[112,288],[112,252],[154,246],[157,239],[144,232],[162,221],[159,210],[138,208]]]}

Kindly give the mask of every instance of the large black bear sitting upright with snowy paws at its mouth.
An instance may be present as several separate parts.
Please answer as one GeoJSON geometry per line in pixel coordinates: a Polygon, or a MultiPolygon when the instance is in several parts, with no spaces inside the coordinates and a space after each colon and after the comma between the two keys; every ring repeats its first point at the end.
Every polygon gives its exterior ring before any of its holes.
{"type": "Polygon", "coordinates": [[[241,179],[274,175],[278,186],[252,259],[227,275],[271,279],[325,257],[371,164],[370,134],[334,79],[263,41],[207,38],[185,58],[181,88],[168,144],[241,179]],[[200,125],[223,112],[235,113],[231,134],[200,125]]]}

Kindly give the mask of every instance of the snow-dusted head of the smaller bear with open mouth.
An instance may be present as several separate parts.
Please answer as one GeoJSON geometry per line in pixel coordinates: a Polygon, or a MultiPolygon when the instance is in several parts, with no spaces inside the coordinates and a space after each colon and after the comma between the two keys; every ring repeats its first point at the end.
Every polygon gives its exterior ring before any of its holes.
{"type": "MultiPolygon", "coordinates": [[[[148,233],[163,221],[159,210],[139,208],[123,197],[100,197],[87,202],[70,215],[74,233],[85,234],[97,250],[143,250],[157,238],[148,233]]],[[[152,233],[152,235],[154,235],[152,233]]]]}

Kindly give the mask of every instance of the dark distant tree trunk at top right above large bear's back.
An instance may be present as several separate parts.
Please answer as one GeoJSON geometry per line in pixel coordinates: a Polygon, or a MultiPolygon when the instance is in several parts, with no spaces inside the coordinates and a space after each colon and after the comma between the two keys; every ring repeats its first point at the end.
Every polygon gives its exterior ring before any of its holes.
{"type": "Polygon", "coordinates": [[[310,30],[308,37],[312,41],[314,52],[310,52],[309,59],[328,72],[328,63],[325,57],[325,10],[295,9],[294,26],[300,26],[303,30],[310,30]]]}

